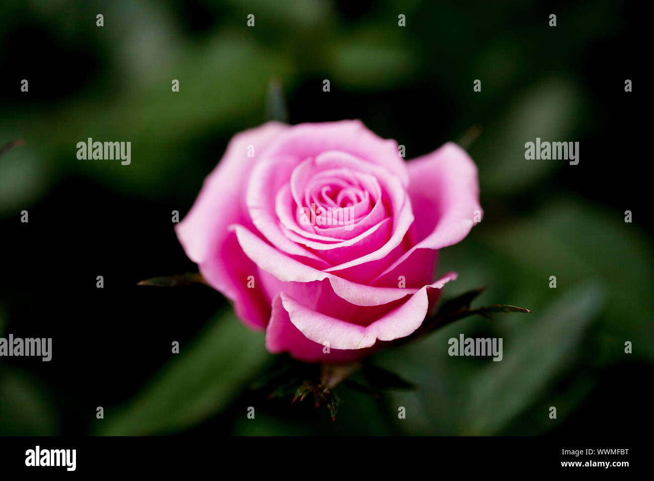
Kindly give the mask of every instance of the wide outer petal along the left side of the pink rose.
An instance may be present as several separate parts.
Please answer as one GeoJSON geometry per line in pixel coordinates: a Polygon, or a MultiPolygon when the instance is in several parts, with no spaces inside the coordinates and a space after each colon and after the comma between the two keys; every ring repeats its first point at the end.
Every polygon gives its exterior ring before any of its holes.
{"type": "Polygon", "coordinates": [[[285,124],[268,122],[235,135],[218,166],[205,179],[188,215],[175,227],[186,255],[198,264],[212,287],[235,303],[239,317],[250,327],[265,327],[269,308],[258,289],[247,289],[247,276],[243,274],[256,274],[256,266],[241,251],[227,226],[250,225],[241,186],[256,160],[247,156],[247,146],[263,149],[286,129],[285,124]]]}

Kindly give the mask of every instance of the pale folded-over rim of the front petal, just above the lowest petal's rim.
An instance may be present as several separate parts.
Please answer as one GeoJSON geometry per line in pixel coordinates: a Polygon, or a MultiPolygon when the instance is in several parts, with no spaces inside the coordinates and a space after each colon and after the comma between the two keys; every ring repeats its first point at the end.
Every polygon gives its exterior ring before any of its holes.
{"type": "Polygon", "coordinates": [[[329,279],[334,292],[347,302],[356,306],[379,306],[413,294],[418,289],[402,287],[371,287],[357,284],[328,272],[307,266],[294,258],[284,255],[275,247],[260,239],[250,230],[239,224],[228,227],[236,232],[236,237],[245,252],[260,269],[285,282],[313,282],[329,279]]]}

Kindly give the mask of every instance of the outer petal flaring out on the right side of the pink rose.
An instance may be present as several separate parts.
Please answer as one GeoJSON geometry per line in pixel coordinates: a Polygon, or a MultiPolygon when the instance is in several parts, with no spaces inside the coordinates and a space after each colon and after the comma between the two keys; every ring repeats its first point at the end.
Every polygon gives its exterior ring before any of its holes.
{"type": "MultiPolygon", "coordinates": [[[[479,205],[477,166],[468,153],[449,142],[437,151],[408,163],[409,196],[417,243],[371,283],[392,278],[418,249],[441,249],[465,238],[474,225],[479,205]]],[[[382,283],[383,284],[383,283],[382,283]]]]}

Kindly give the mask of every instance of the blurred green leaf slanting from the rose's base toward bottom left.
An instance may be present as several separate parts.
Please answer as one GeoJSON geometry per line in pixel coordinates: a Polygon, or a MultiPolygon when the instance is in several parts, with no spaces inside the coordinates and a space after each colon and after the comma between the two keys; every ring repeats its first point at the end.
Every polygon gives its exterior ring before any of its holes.
{"type": "Polygon", "coordinates": [[[96,434],[175,433],[230,405],[271,361],[264,336],[247,329],[233,312],[216,316],[190,346],[156,374],[126,406],[105,409],[96,434]]]}

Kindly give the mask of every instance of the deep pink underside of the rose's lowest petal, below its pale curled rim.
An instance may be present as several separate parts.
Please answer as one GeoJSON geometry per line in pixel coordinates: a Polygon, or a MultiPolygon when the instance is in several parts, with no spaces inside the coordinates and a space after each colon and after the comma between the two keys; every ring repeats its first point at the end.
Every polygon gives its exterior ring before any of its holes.
{"type": "Polygon", "coordinates": [[[291,323],[279,294],[275,296],[272,304],[270,322],[266,328],[266,349],[273,354],[288,351],[295,359],[305,363],[347,363],[359,359],[370,351],[370,349],[342,351],[330,347],[330,351],[325,353],[322,344],[307,339],[291,323]]]}

